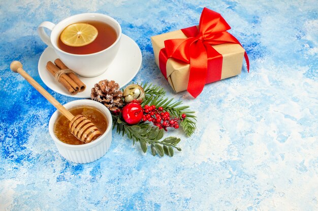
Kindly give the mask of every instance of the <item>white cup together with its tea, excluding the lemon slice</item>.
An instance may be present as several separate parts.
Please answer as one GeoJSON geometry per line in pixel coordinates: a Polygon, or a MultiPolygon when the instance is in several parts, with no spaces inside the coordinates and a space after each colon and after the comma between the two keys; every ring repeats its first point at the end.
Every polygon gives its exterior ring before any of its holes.
{"type": "Polygon", "coordinates": [[[83,77],[95,77],[104,73],[114,60],[121,38],[119,23],[110,16],[99,13],[82,13],[68,17],[57,24],[42,22],[38,27],[42,41],[53,48],[59,59],[70,69],[83,77]],[[88,23],[94,26],[97,37],[88,45],[74,47],[65,45],[60,34],[74,23],[88,23]],[[50,36],[45,28],[51,30],[50,36]]]}

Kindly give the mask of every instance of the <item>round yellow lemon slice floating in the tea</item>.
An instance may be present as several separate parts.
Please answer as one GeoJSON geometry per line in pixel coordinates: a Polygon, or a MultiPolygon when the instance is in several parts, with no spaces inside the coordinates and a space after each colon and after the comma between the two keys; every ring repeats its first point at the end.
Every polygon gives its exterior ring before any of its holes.
{"type": "Polygon", "coordinates": [[[88,23],[73,23],[61,33],[60,39],[67,46],[86,46],[97,37],[98,30],[88,23]]]}

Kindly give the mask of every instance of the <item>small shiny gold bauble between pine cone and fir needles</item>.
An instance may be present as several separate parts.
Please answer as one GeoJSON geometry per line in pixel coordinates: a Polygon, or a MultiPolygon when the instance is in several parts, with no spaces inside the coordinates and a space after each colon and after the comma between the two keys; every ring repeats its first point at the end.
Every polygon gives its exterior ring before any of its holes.
{"type": "Polygon", "coordinates": [[[141,86],[132,84],[127,86],[122,93],[125,104],[142,103],[145,98],[145,91],[141,86]]]}

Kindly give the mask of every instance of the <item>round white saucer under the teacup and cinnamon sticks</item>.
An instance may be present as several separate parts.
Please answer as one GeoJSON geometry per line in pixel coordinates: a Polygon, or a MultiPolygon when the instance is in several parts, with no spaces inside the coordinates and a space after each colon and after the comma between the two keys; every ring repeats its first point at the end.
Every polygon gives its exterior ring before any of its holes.
{"type": "Polygon", "coordinates": [[[74,98],[90,98],[91,88],[94,87],[95,83],[98,83],[100,80],[108,79],[115,80],[120,88],[129,83],[138,73],[141,67],[141,51],[135,41],[129,36],[122,34],[121,35],[121,44],[117,56],[115,57],[112,64],[108,69],[101,75],[96,77],[81,77],[81,81],[85,83],[86,89],[84,92],[79,92],[76,95],[71,95],[68,91],[57,82],[54,77],[46,69],[46,63],[51,61],[54,63],[54,60],[57,59],[57,55],[54,50],[50,47],[46,48],[42,53],[39,60],[39,75],[43,82],[51,90],[61,94],[74,98]]]}

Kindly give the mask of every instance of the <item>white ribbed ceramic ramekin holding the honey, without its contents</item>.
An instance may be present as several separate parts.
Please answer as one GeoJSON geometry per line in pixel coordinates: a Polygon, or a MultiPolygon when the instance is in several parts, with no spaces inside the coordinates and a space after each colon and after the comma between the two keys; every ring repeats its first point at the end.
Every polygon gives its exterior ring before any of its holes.
{"type": "Polygon", "coordinates": [[[67,160],[76,163],[87,163],[103,157],[112,142],[112,116],[103,104],[93,100],[75,100],[64,105],[67,109],[78,106],[92,106],[100,110],[107,118],[108,127],[105,133],[98,139],[82,145],[66,144],[58,140],[54,134],[54,123],[59,116],[56,110],[49,121],[49,133],[58,149],[58,152],[67,160]]]}

